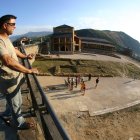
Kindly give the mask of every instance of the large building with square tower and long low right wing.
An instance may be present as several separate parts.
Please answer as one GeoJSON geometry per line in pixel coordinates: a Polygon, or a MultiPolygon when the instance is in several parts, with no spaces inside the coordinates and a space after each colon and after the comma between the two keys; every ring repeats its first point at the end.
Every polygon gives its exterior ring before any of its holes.
{"type": "Polygon", "coordinates": [[[73,54],[81,51],[112,53],[115,50],[115,46],[106,39],[76,36],[74,27],[61,25],[53,28],[51,51],[54,53],[73,54]]]}

